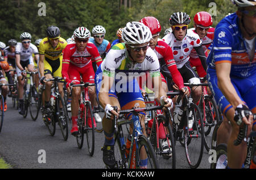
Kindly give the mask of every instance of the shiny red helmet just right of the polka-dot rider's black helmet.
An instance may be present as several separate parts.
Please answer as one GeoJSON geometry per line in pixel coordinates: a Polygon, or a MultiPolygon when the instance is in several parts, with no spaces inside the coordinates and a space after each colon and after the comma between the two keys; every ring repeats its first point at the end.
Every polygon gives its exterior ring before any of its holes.
{"type": "Polygon", "coordinates": [[[210,27],[212,25],[212,16],[208,12],[200,11],[195,15],[194,22],[197,25],[203,25],[203,27],[210,27]]]}

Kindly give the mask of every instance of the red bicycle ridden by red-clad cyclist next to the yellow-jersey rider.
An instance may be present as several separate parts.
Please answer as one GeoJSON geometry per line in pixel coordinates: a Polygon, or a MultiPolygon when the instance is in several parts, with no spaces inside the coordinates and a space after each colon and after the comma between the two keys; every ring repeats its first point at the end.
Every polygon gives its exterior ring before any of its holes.
{"type": "Polygon", "coordinates": [[[88,87],[94,86],[93,83],[81,83],[71,85],[71,93],[73,87],[81,87],[81,95],[79,100],[79,114],[77,118],[77,126],[79,128],[79,134],[76,136],[76,141],[79,149],[84,144],[84,134],[86,134],[86,140],[88,145],[89,155],[93,156],[94,153],[94,115],[92,111],[92,105],[89,101],[88,87]]]}

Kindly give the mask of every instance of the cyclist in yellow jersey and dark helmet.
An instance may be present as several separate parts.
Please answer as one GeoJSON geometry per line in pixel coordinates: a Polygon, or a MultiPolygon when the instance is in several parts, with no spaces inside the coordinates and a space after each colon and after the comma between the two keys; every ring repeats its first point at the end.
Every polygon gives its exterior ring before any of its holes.
{"type": "MultiPolygon", "coordinates": [[[[51,106],[49,100],[51,96],[51,87],[53,82],[46,82],[47,79],[52,77],[61,77],[63,49],[67,46],[67,41],[60,37],[60,29],[55,25],[51,25],[46,30],[47,37],[44,37],[39,44],[39,72],[40,82],[46,83],[44,91],[44,110],[46,113],[50,111],[51,106]]],[[[59,92],[64,97],[63,83],[58,83],[59,92]]],[[[63,105],[60,105],[63,108],[63,105]]]]}

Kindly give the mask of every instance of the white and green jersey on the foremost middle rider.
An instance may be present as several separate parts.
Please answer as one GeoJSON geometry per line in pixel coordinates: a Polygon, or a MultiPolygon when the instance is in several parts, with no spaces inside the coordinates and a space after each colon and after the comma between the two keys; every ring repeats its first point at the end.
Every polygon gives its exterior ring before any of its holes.
{"type": "Polygon", "coordinates": [[[150,72],[151,77],[160,76],[160,65],[155,52],[148,48],[146,58],[142,63],[132,62],[127,54],[125,43],[115,44],[101,63],[101,70],[104,75],[119,76],[142,76],[150,72]]]}

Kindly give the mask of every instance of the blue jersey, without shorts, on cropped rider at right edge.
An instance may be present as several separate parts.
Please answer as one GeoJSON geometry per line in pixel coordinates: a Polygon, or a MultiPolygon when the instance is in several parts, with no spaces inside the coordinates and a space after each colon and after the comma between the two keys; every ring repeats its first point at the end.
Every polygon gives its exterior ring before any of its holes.
{"type": "MultiPolygon", "coordinates": [[[[249,59],[246,42],[238,26],[236,13],[226,16],[218,23],[214,32],[213,49],[207,58],[209,68],[215,69],[217,63],[231,63],[230,75],[247,78],[256,73],[256,59],[249,59]]],[[[255,41],[256,46],[256,41],[255,41]]]]}

